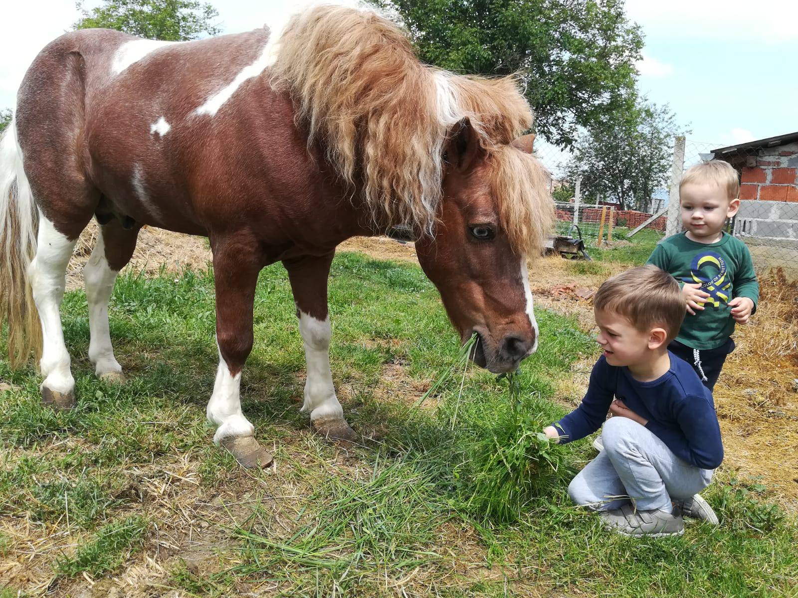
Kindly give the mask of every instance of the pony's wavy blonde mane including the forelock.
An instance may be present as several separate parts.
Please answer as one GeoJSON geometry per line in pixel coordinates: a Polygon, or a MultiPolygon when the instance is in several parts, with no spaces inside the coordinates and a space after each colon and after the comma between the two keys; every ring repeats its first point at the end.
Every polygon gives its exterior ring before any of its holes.
{"type": "Polygon", "coordinates": [[[314,6],[295,15],[277,43],[272,85],[294,96],[308,143],[321,142],[342,180],[362,187],[374,222],[433,230],[444,143],[468,117],[495,158],[494,187],[513,247],[539,249],[551,208],[541,196],[545,183],[528,188],[541,184],[542,168],[508,148],[531,125],[515,77],[464,77],[422,65],[405,33],[370,10],[314,6]]]}

